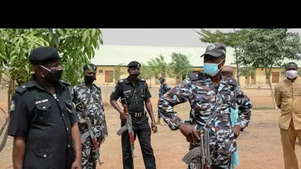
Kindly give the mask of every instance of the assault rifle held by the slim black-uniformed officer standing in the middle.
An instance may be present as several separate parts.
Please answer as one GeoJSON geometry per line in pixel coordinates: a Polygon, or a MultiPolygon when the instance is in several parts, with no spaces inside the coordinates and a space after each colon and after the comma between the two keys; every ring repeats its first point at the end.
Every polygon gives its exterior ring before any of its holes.
{"type": "Polygon", "coordinates": [[[121,127],[118,131],[117,131],[117,135],[121,135],[124,131],[128,130],[129,133],[129,139],[130,139],[130,145],[131,145],[131,153],[132,153],[132,158],[134,157],[134,143],[135,143],[135,138],[134,138],[134,130],[133,130],[133,125],[132,125],[132,116],[129,114],[129,109],[128,106],[126,104],[126,100],[125,98],[120,99],[124,113],[126,114],[126,125],[121,127]]]}

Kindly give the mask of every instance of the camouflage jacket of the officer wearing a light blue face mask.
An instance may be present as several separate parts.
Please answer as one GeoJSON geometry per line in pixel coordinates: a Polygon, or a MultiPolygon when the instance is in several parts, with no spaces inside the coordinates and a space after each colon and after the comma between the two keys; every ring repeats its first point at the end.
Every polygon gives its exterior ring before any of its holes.
{"type": "Polygon", "coordinates": [[[190,122],[199,129],[205,125],[210,115],[210,152],[213,164],[223,165],[231,161],[231,154],[236,151],[236,140],[231,128],[231,107],[239,106],[239,119],[235,125],[244,129],[251,119],[251,100],[237,86],[234,78],[222,77],[220,84],[214,86],[210,78],[203,73],[191,73],[181,84],[172,88],[158,101],[160,116],[172,130],[184,122],[178,117],[173,106],[189,101],[190,122]]]}

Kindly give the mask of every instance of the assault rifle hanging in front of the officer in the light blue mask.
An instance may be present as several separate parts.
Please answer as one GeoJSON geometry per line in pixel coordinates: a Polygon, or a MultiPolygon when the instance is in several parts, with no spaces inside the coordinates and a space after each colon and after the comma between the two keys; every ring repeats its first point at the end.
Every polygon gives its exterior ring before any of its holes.
{"type": "Polygon", "coordinates": [[[195,147],[190,150],[182,159],[186,164],[189,164],[194,158],[201,156],[201,165],[202,169],[211,169],[211,157],[210,157],[210,147],[209,147],[209,130],[205,127],[202,127],[200,130],[197,130],[197,133],[200,135],[201,141],[200,146],[195,147]]]}

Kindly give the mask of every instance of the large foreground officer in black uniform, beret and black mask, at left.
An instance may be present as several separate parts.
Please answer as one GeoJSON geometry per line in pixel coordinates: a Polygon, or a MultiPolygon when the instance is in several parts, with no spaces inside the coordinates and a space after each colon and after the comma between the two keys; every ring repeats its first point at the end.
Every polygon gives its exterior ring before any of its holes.
{"type": "Polygon", "coordinates": [[[8,135],[14,137],[14,169],[81,169],[78,118],[69,84],[60,80],[60,60],[56,48],[34,49],[29,61],[35,74],[12,96],[8,135]]]}

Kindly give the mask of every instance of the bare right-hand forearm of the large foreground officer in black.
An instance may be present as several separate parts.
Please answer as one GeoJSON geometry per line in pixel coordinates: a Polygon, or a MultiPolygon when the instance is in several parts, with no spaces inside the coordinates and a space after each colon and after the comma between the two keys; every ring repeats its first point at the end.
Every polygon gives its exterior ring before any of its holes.
{"type": "Polygon", "coordinates": [[[72,126],[72,140],[75,153],[75,160],[82,159],[81,136],[77,123],[75,123],[72,126]]]}

